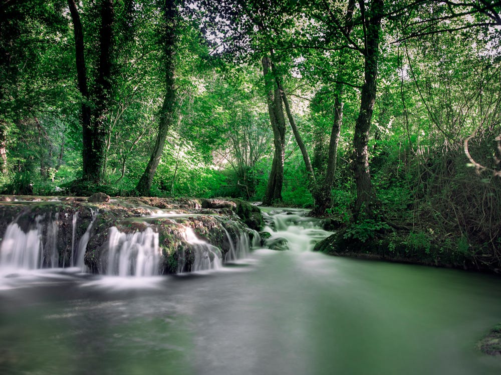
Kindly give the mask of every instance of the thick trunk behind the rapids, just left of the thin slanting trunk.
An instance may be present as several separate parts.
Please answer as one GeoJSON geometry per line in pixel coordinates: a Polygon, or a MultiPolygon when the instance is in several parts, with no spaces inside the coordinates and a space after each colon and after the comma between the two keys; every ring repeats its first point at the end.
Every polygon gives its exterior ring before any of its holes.
{"type": "Polygon", "coordinates": [[[268,114],[273,130],[273,143],[275,152],[273,155],[272,170],[268,178],[268,186],[264,204],[282,200],[282,185],[284,184],[284,160],[285,160],[285,117],[282,107],[280,88],[273,76],[273,64],[269,57],[263,57],[263,75],[267,91],[268,114]]]}

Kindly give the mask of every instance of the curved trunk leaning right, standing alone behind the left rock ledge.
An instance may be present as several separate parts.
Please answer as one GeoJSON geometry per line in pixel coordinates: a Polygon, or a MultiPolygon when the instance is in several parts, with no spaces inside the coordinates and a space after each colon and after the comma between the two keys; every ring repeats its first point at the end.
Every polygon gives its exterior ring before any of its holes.
{"type": "Polygon", "coordinates": [[[151,152],[148,165],[143,172],[136,190],[141,195],[149,195],[153,177],[162,156],[163,147],[167,132],[174,122],[174,104],[176,100],[176,92],[174,87],[174,68],[175,68],[175,47],[176,47],[176,22],[177,22],[177,6],[175,0],[165,0],[164,3],[164,69],[165,69],[165,96],[163,99],[162,109],[158,123],[158,133],[155,140],[155,145],[151,152]]]}

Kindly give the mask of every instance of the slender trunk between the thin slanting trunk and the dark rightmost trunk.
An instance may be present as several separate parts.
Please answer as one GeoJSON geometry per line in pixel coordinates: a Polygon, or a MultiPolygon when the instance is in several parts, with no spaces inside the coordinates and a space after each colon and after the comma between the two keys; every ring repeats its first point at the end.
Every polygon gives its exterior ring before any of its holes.
{"type": "MultiPolygon", "coordinates": [[[[355,10],[355,0],[348,0],[348,7],[345,14],[344,32],[349,36],[353,30],[353,11],[355,10]]],[[[341,51],[338,59],[339,76],[343,77],[345,65],[345,55],[341,51]]],[[[332,186],[334,184],[334,175],[337,167],[337,154],[339,135],[341,134],[341,126],[343,124],[343,92],[344,84],[339,81],[334,89],[334,121],[332,123],[331,137],[329,140],[329,155],[327,158],[327,171],[324,181],[317,189],[314,190],[313,197],[315,199],[312,214],[315,216],[324,215],[327,208],[332,205],[332,186]]]]}

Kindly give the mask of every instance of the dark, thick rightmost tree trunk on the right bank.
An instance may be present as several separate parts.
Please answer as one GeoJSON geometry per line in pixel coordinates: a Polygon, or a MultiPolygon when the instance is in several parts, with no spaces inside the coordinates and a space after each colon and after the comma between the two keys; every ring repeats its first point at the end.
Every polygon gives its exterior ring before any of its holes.
{"type": "MultiPolygon", "coordinates": [[[[363,2],[361,3],[363,9],[363,2]]],[[[369,129],[372,120],[374,102],[376,100],[376,78],[379,57],[379,30],[383,15],[383,0],[372,0],[368,17],[364,17],[366,26],[365,42],[365,82],[362,86],[360,113],[355,123],[353,137],[353,170],[357,186],[354,216],[357,218],[362,212],[367,217],[374,216],[375,194],[371,183],[369,170],[369,129]]],[[[362,13],[363,14],[363,13],[362,13]]]]}

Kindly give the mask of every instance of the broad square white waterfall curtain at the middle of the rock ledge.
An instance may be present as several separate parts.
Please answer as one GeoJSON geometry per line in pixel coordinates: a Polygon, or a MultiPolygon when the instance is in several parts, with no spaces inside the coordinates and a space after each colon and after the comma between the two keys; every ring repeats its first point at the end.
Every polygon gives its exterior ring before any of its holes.
{"type": "Polygon", "coordinates": [[[118,276],[153,276],[159,273],[158,233],[151,227],[124,233],[113,226],[108,234],[106,274],[118,276]]]}

